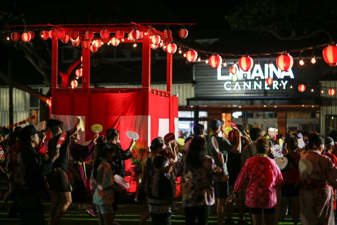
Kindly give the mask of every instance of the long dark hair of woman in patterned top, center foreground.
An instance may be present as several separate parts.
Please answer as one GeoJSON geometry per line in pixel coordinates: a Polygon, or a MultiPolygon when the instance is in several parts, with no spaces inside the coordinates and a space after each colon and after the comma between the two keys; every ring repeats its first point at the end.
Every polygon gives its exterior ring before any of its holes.
{"type": "Polygon", "coordinates": [[[186,154],[186,164],[188,169],[196,171],[198,168],[203,167],[205,158],[205,139],[200,136],[195,136],[188,148],[186,154]]]}

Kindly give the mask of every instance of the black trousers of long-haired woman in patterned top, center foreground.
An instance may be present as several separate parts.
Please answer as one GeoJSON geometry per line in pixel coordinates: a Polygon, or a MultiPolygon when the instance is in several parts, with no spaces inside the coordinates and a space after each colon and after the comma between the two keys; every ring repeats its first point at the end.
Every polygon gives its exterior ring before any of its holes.
{"type": "Polygon", "coordinates": [[[195,225],[196,218],[198,219],[197,225],[207,225],[208,217],[210,216],[210,206],[195,206],[185,207],[185,224],[195,225]]]}

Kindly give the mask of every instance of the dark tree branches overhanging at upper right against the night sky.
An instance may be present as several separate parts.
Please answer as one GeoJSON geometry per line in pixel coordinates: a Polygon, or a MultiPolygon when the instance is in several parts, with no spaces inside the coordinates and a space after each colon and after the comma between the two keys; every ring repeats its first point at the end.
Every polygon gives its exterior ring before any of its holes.
{"type": "Polygon", "coordinates": [[[280,40],[302,40],[318,34],[337,36],[337,1],[243,0],[229,16],[233,30],[249,30],[280,40]]]}

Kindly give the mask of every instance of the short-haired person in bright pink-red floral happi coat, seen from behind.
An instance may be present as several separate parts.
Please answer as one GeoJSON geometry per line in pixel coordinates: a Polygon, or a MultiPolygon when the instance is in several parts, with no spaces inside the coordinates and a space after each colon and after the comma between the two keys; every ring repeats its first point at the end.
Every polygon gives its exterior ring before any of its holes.
{"type": "Polygon", "coordinates": [[[245,205],[249,207],[254,225],[262,224],[262,211],[266,225],[274,225],[274,213],[277,204],[276,189],[283,183],[281,171],[276,162],[268,157],[269,140],[261,138],[256,142],[257,154],[245,161],[235,181],[231,202],[237,193],[246,187],[245,205]]]}

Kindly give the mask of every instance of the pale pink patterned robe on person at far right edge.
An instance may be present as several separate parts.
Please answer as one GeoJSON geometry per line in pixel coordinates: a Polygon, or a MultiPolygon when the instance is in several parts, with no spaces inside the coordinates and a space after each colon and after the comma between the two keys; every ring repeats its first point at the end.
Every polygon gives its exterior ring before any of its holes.
{"type": "Polygon", "coordinates": [[[309,150],[301,161],[309,161],[313,167],[310,174],[300,167],[302,225],[335,225],[331,185],[337,187],[337,167],[315,150],[309,150]]]}

